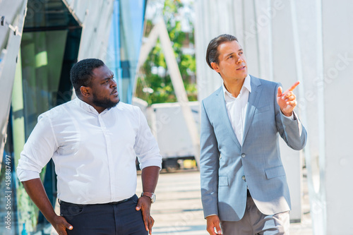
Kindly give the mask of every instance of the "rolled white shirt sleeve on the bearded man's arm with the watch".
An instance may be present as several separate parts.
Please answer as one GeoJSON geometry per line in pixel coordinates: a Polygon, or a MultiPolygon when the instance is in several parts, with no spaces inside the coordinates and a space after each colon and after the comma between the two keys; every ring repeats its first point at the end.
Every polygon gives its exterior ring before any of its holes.
{"type": "Polygon", "coordinates": [[[140,162],[140,169],[151,166],[162,169],[162,156],[160,155],[157,140],[152,135],[147,120],[140,108],[136,107],[136,109],[138,110],[139,128],[133,148],[138,157],[138,162],[140,162]]]}

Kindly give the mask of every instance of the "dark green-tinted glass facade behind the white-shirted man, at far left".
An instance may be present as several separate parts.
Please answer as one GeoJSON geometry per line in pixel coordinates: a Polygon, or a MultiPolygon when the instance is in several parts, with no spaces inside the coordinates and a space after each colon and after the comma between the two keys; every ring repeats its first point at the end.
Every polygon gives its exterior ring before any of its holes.
{"type": "MultiPolygon", "coordinates": [[[[81,31],[63,1],[28,1],[0,174],[0,190],[8,192],[8,198],[1,197],[0,203],[8,203],[11,210],[0,207],[1,218],[7,226],[1,224],[0,234],[51,232],[49,222],[32,203],[22,183],[18,182],[16,166],[37,117],[71,100],[69,71],[78,58],[81,31]]],[[[56,175],[52,161],[40,176],[54,206],[56,175]]]]}

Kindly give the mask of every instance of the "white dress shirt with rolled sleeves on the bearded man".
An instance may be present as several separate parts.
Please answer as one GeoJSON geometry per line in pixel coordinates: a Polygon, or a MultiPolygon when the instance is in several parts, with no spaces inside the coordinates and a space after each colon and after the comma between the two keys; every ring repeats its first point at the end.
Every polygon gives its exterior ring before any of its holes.
{"type": "Polygon", "coordinates": [[[136,192],[140,168],[162,167],[162,156],[138,107],[119,102],[98,114],[76,98],[41,114],[18,161],[20,181],[40,177],[52,158],[58,198],[68,203],[110,203],[136,192]]]}

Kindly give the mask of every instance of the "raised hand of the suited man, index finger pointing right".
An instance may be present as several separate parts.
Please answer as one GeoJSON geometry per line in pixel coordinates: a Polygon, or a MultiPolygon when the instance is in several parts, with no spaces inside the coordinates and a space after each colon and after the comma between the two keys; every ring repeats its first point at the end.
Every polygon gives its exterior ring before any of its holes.
{"type": "Polygon", "coordinates": [[[297,106],[296,96],[293,93],[297,85],[299,85],[299,81],[294,83],[294,85],[285,92],[282,92],[281,87],[277,90],[277,104],[280,106],[282,114],[285,116],[292,116],[293,109],[297,106]]]}

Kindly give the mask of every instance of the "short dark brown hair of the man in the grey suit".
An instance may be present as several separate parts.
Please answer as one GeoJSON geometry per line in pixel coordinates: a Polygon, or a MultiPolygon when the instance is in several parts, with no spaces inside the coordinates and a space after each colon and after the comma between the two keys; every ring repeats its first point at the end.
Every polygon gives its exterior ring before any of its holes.
{"type": "Polygon", "coordinates": [[[218,46],[224,42],[232,41],[238,42],[237,37],[234,37],[233,35],[220,35],[210,41],[206,51],[206,62],[208,66],[210,66],[210,68],[212,68],[212,62],[215,62],[215,64],[218,64],[220,62],[218,59],[218,57],[220,56],[220,52],[218,52],[218,46]]]}

